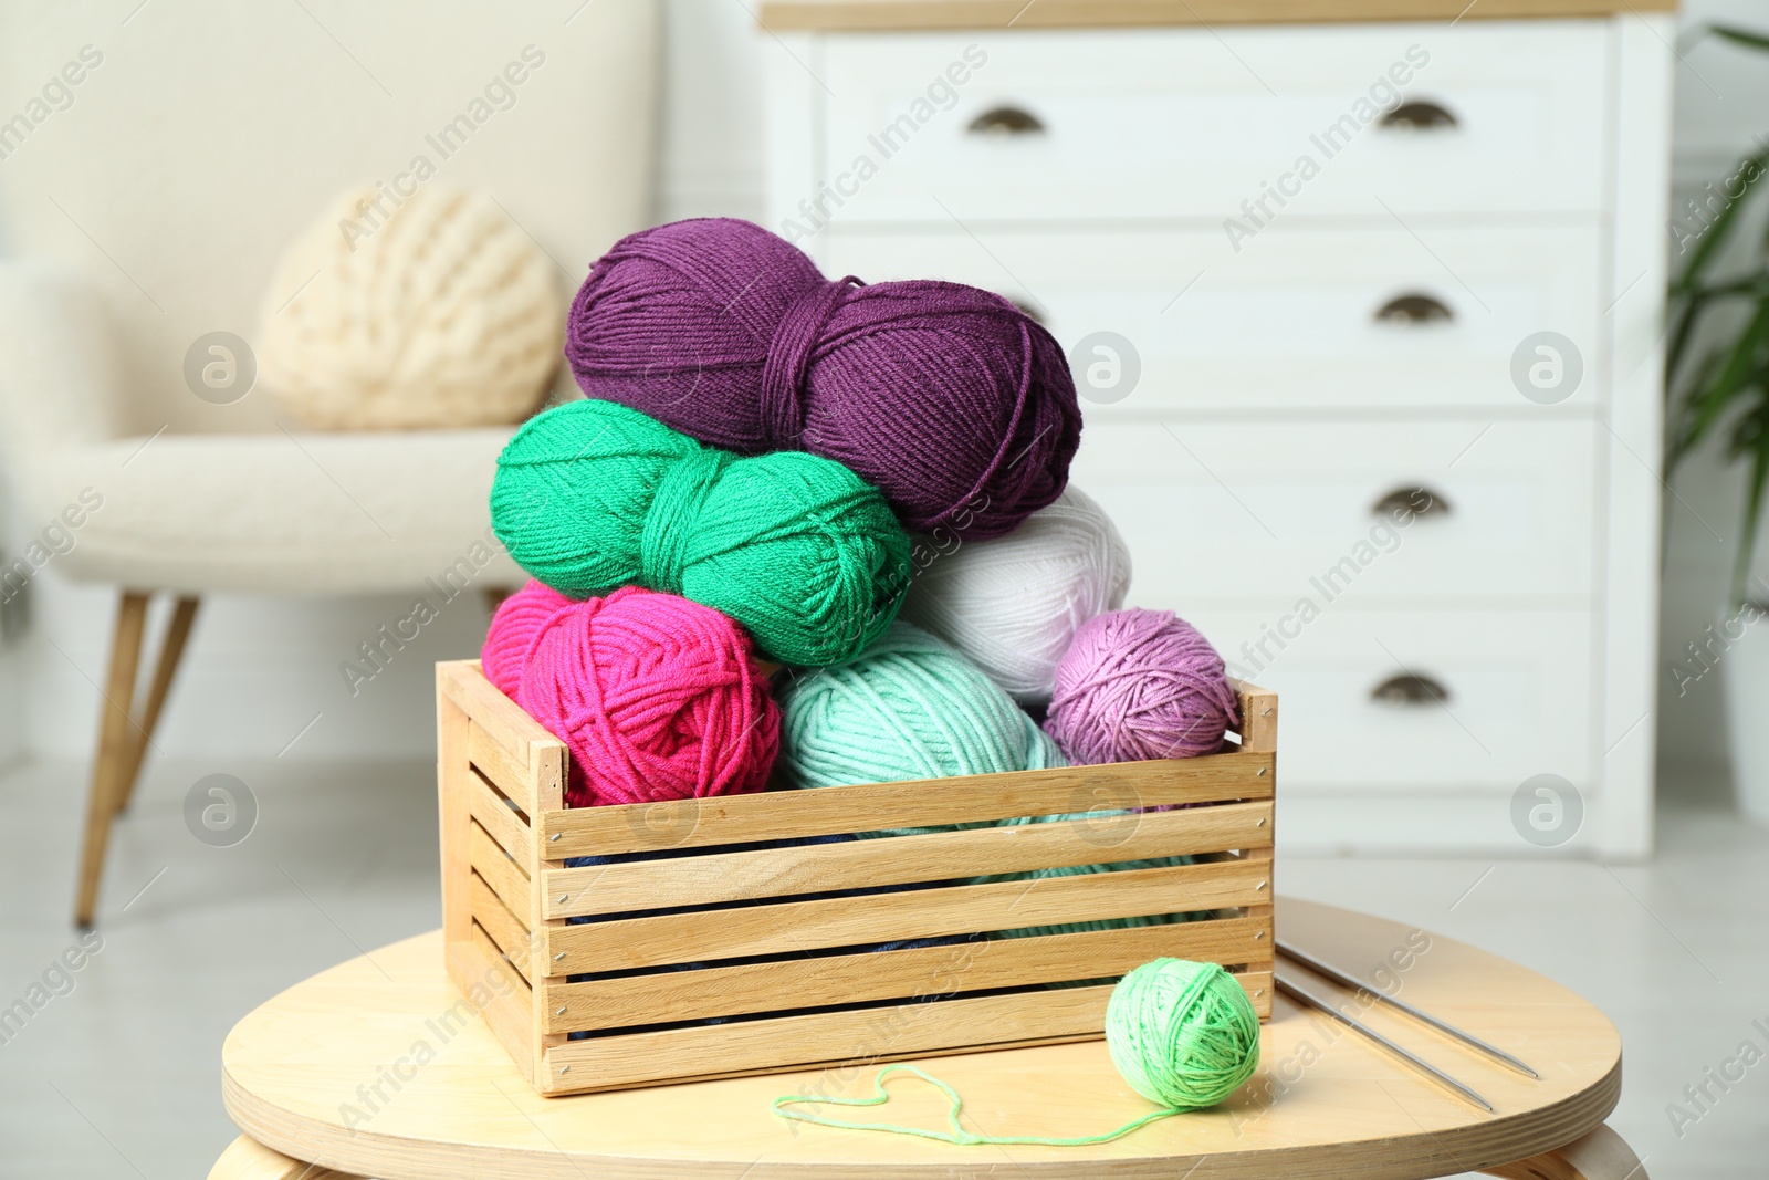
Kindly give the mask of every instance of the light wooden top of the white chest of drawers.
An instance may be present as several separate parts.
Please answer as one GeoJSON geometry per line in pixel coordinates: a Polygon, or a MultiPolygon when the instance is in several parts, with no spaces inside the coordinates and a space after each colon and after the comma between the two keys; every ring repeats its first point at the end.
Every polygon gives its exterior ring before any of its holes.
{"type": "Polygon", "coordinates": [[[1313,25],[1675,12],[1677,0],[764,0],[775,32],[1313,25]]]}

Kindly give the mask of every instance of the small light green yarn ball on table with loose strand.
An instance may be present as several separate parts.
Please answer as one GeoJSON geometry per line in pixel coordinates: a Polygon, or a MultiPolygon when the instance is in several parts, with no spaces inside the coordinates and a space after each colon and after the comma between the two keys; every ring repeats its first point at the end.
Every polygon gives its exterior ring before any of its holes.
{"type": "Polygon", "coordinates": [[[1150,1102],[1199,1109],[1240,1090],[1260,1067],[1260,1015],[1221,966],[1155,959],[1113,987],[1106,1047],[1150,1102]]]}

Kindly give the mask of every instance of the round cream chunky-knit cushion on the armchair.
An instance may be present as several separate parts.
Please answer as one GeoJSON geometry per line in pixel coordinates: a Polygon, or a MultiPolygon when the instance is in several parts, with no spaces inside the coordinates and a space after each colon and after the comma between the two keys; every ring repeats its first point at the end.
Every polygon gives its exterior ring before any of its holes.
{"type": "Polygon", "coordinates": [[[260,380],[322,430],[522,421],[564,341],[552,262],[488,196],[423,188],[393,200],[345,193],[283,251],[260,380]]]}

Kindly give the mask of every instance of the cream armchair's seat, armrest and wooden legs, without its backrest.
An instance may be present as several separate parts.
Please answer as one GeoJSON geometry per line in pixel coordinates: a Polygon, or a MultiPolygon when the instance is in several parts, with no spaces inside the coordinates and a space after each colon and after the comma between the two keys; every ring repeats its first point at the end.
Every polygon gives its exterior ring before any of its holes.
{"type": "MultiPolygon", "coordinates": [[[[111,819],[205,593],[370,594],[460,571],[511,587],[486,494],[509,428],[387,433],[126,433],[111,327],[96,292],[44,265],[0,267],[0,458],[27,525],[60,522],[64,577],[119,587],[74,918],[90,925],[111,819]],[[78,522],[78,524],[76,524],[78,522]],[[150,594],[177,600],[145,693],[150,594]]],[[[42,556],[42,554],[39,554],[42,556]]],[[[0,568],[0,594],[34,575],[0,568]]]]}

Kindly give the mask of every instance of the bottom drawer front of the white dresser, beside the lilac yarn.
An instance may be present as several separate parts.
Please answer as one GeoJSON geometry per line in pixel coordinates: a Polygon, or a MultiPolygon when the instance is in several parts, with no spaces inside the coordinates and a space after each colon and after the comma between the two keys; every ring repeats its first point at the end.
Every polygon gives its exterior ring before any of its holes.
{"type": "Polygon", "coordinates": [[[1306,624],[1247,610],[1187,617],[1235,674],[1279,693],[1284,793],[1509,793],[1541,773],[1590,784],[1587,610],[1329,607],[1306,624]],[[1295,635],[1284,647],[1270,639],[1279,626],[1295,635]]]}

